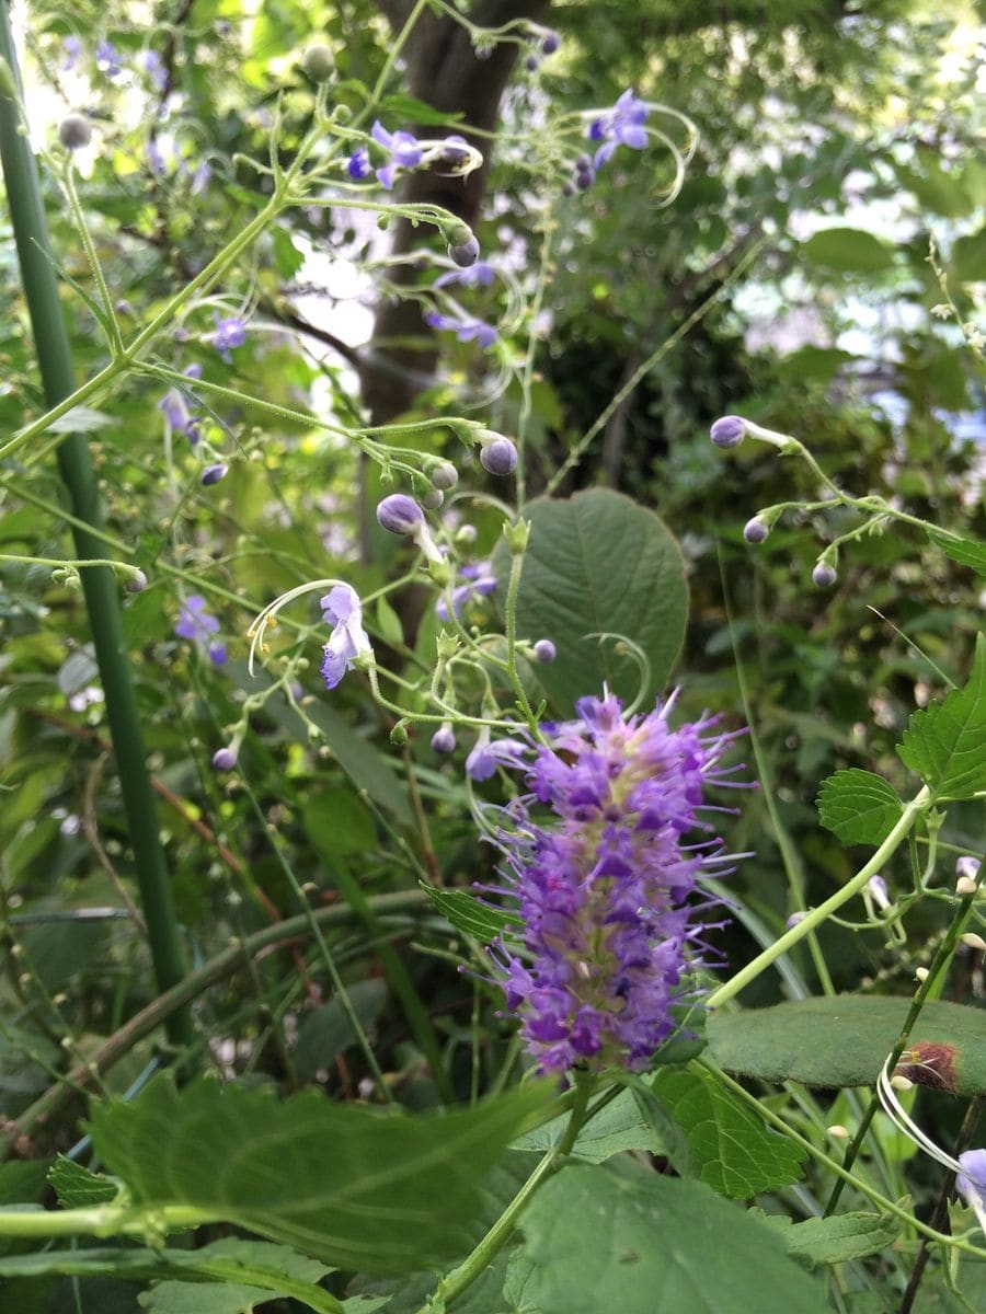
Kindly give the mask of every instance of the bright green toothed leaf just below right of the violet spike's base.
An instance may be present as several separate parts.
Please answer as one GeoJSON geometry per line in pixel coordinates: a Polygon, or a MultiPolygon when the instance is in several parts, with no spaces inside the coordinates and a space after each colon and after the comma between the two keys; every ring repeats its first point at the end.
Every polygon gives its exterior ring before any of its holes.
{"type": "Polygon", "coordinates": [[[803,1151],[703,1072],[665,1068],[653,1093],[684,1130],[698,1179],[718,1194],[749,1200],[802,1177],[803,1151]]]}

